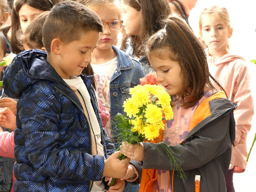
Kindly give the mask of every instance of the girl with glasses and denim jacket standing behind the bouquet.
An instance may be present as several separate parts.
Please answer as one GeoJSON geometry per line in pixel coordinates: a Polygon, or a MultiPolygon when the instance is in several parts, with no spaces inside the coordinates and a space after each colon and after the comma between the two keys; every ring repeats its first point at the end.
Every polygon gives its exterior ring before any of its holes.
{"type": "MultiPolygon", "coordinates": [[[[104,31],[100,33],[97,47],[92,53],[90,63],[95,73],[97,83],[97,97],[110,112],[111,121],[106,125],[106,132],[116,147],[121,142],[120,129],[116,126],[115,115],[124,113],[124,101],[131,97],[129,89],[140,84],[144,72],[140,63],[116,48],[118,30],[122,27],[121,11],[114,0],[86,0],[79,1],[93,10],[104,23],[104,31]]],[[[137,165],[135,163],[135,165],[137,165]]],[[[135,167],[129,166],[127,175],[134,175],[135,167]]],[[[137,177],[138,178],[138,177],[137,177]]],[[[132,184],[137,178],[129,179],[132,184]]],[[[138,191],[139,186],[127,184],[125,191],[138,191]]]]}

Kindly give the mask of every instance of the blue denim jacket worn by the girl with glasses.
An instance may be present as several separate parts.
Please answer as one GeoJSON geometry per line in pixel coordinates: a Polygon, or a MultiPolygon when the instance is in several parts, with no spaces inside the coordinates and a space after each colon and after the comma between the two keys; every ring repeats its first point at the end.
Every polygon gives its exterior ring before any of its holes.
{"type": "Polygon", "coordinates": [[[117,147],[118,143],[121,142],[121,137],[120,129],[113,123],[117,120],[115,115],[124,113],[122,106],[124,101],[131,97],[129,94],[130,88],[140,84],[140,78],[145,77],[145,75],[138,61],[115,46],[112,46],[112,49],[115,51],[118,60],[117,68],[109,83],[111,129],[113,143],[117,147]]]}

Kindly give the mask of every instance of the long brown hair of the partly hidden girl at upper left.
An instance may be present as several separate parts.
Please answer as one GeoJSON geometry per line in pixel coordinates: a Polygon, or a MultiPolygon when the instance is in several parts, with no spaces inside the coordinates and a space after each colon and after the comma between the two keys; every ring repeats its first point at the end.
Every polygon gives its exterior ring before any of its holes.
{"type": "MultiPolygon", "coordinates": [[[[62,0],[52,0],[53,4],[56,4],[61,1],[62,0]]],[[[13,3],[12,17],[11,17],[12,19],[11,47],[13,52],[16,54],[24,50],[19,40],[17,40],[16,32],[21,29],[20,22],[19,22],[19,10],[25,3],[35,9],[42,10],[42,11],[48,11],[53,6],[48,0],[17,0],[15,3],[13,3]]]]}

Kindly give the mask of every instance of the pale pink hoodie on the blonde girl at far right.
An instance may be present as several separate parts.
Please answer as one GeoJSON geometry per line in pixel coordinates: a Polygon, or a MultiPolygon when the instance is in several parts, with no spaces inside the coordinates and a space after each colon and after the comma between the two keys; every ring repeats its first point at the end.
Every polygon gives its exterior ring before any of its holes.
{"type": "MultiPolygon", "coordinates": [[[[251,81],[245,59],[241,56],[227,53],[221,58],[209,56],[206,49],[207,62],[211,75],[221,83],[228,99],[238,105],[234,110],[236,121],[236,139],[232,146],[230,169],[236,166],[239,172],[246,169],[246,138],[251,129],[254,114],[253,98],[251,96],[251,81]]],[[[214,84],[216,88],[218,86],[214,84]]]]}

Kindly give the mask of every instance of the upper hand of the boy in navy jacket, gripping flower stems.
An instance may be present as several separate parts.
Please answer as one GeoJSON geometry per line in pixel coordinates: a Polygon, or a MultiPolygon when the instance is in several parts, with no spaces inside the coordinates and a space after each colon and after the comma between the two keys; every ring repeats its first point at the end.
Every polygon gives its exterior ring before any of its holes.
{"type": "Polygon", "coordinates": [[[108,159],[105,160],[103,170],[103,177],[122,178],[128,170],[129,158],[119,160],[120,151],[113,153],[108,159]]]}

